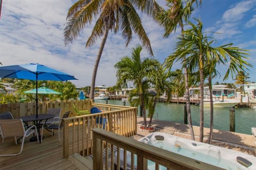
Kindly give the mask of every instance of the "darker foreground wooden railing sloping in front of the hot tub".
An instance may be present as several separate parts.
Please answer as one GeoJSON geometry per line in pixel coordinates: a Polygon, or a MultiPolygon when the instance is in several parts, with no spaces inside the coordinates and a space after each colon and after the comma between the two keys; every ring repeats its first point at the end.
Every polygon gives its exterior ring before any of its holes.
{"type": "Polygon", "coordinates": [[[93,169],[222,169],[102,129],[93,129],[93,169]],[[136,158],[137,157],[137,158],[136,158]]]}

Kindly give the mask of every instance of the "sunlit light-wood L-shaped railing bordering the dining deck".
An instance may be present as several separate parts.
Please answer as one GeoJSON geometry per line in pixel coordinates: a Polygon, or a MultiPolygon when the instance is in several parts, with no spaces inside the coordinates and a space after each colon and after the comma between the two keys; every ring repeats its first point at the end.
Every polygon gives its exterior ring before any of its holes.
{"type": "Polygon", "coordinates": [[[64,119],[63,157],[78,153],[93,154],[92,129],[100,128],[115,134],[131,137],[137,134],[137,107],[95,104],[102,113],[64,119]]]}

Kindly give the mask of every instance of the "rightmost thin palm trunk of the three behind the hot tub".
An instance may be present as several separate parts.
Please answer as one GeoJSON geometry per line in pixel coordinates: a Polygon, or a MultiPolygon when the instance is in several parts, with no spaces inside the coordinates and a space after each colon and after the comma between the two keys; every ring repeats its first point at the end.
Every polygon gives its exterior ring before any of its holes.
{"type": "Polygon", "coordinates": [[[212,78],[209,79],[209,91],[210,91],[210,134],[209,134],[209,140],[208,143],[212,143],[212,137],[213,137],[213,99],[212,99],[212,78]]]}

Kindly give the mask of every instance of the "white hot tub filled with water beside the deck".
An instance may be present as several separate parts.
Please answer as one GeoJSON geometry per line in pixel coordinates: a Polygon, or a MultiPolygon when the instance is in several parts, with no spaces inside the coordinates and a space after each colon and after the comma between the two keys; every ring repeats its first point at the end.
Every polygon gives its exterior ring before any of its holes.
{"type": "Polygon", "coordinates": [[[139,141],[228,170],[256,169],[256,157],[252,155],[171,134],[154,132],[139,141]]]}

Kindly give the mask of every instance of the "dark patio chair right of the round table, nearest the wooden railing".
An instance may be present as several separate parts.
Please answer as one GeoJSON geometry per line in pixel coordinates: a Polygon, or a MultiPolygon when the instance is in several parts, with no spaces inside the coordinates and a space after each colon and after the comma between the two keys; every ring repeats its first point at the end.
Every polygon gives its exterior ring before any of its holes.
{"type": "Polygon", "coordinates": [[[41,142],[43,141],[43,130],[46,129],[48,131],[51,131],[52,132],[52,135],[54,134],[53,133],[53,130],[58,130],[58,135],[59,135],[59,141],[60,141],[60,129],[63,128],[63,118],[67,118],[69,116],[69,114],[71,113],[71,111],[68,111],[68,112],[65,112],[61,117],[54,117],[54,121],[52,124],[44,124],[42,126],[42,134],[41,134],[41,142]]]}

